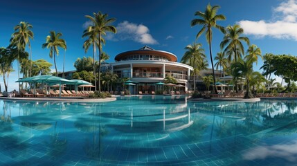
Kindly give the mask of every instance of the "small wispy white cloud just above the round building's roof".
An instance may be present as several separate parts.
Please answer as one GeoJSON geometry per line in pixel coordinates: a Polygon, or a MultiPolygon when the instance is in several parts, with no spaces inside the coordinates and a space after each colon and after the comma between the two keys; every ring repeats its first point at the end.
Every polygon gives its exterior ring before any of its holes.
{"type": "Polygon", "coordinates": [[[133,40],[141,44],[158,44],[156,39],[150,35],[150,30],[143,24],[134,24],[129,21],[123,21],[116,26],[117,33],[107,35],[107,39],[117,40],[133,40]]]}

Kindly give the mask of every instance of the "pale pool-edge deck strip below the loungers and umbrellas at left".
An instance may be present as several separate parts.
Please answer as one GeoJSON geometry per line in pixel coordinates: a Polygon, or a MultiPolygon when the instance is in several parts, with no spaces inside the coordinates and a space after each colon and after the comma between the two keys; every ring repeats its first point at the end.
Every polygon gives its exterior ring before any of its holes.
{"type": "Polygon", "coordinates": [[[51,102],[112,102],[116,101],[116,98],[85,98],[85,97],[46,97],[46,98],[8,98],[0,97],[2,100],[18,100],[18,101],[51,101],[51,102]]]}

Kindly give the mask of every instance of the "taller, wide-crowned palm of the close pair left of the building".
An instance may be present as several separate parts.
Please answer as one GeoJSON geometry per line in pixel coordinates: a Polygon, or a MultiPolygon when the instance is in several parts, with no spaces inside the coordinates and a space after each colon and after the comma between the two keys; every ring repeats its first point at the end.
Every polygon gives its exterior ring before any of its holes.
{"type": "Polygon", "coordinates": [[[102,53],[102,44],[105,44],[105,39],[102,35],[106,35],[107,32],[116,33],[116,27],[111,26],[110,24],[114,22],[116,19],[111,18],[107,19],[107,14],[102,14],[100,11],[98,13],[93,12],[93,17],[86,15],[88,19],[91,20],[91,27],[88,28],[92,33],[98,36],[98,51],[99,51],[99,71],[98,71],[98,90],[101,92],[100,86],[100,66],[101,66],[101,53],[102,53]]]}

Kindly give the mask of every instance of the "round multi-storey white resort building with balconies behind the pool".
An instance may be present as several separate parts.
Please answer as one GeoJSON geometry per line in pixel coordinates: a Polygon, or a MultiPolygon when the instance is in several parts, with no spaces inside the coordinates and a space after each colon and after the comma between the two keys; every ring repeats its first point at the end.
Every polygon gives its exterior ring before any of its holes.
{"type": "Polygon", "coordinates": [[[136,82],[130,87],[130,93],[138,91],[156,91],[156,83],[163,82],[167,75],[171,75],[181,84],[183,91],[188,91],[192,66],[177,62],[177,56],[163,50],[154,50],[144,46],[139,50],[129,50],[116,55],[114,63],[103,64],[102,71],[111,70],[118,77],[129,77],[136,82]]]}

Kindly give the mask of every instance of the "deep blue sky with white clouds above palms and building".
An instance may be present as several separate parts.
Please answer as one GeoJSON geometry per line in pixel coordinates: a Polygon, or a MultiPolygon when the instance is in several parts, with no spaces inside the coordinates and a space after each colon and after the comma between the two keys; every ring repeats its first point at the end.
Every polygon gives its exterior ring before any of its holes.
{"type": "MultiPolygon", "coordinates": [[[[262,53],[291,54],[297,51],[297,1],[295,0],[134,0],[134,1],[3,1],[0,10],[0,46],[6,47],[13,28],[20,21],[33,25],[35,37],[32,44],[33,60],[49,58],[48,49],[42,44],[50,30],[63,34],[66,40],[65,71],[75,68],[73,63],[78,57],[92,56],[91,50],[84,53],[82,32],[88,23],[85,15],[101,11],[116,18],[116,35],[107,34],[103,50],[110,56],[107,62],[114,62],[118,53],[136,50],[148,45],[156,50],[174,53],[180,61],[184,48],[193,42],[203,45],[209,60],[208,44],[204,36],[195,39],[201,26],[190,27],[196,11],[204,11],[207,4],[218,5],[218,14],[226,16],[226,21],[218,21],[221,26],[240,24],[251,44],[261,48],[262,53]]],[[[219,43],[223,34],[213,33],[213,55],[220,51],[219,43]]],[[[247,47],[247,46],[246,46],[247,47]]],[[[246,49],[245,47],[245,49],[246,49]]],[[[57,57],[58,71],[62,71],[64,51],[57,57]]],[[[258,62],[255,70],[262,66],[258,62]]],[[[14,63],[17,70],[17,62],[14,63]]],[[[54,66],[52,67],[54,69],[54,66]]],[[[8,90],[17,89],[17,72],[10,75],[8,90]]],[[[0,77],[3,89],[3,78],[0,77]]]]}

